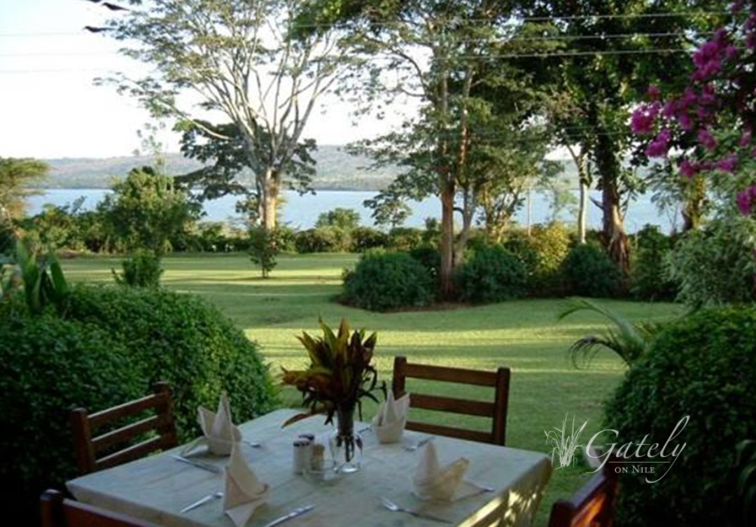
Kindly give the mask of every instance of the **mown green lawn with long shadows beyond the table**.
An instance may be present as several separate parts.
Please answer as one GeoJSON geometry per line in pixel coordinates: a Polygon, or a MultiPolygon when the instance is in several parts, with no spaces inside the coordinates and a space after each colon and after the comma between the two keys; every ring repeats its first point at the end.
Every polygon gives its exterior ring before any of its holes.
{"type": "MultiPolygon", "coordinates": [[[[119,268],[119,261],[71,259],[64,261],[64,271],[73,281],[110,282],[110,268],[119,268]]],[[[565,301],[553,299],[436,312],[365,312],[333,302],[343,268],[355,261],[356,256],[345,254],[281,256],[273,276],[262,280],[244,255],[171,256],[165,260],[163,284],[218,305],[260,344],[276,375],[282,366],[305,366],[296,334],[316,332],[318,317],[328,324],[338,324],[346,317],[353,327],[378,332],[377,362],[387,381],[394,355],[457,367],[511,367],[507,420],[507,445],[511,447],[546,452],[544,430],[561,425],[565,414],[570,419],[575,414],[578,423],[589,420],[584,438],[600,429],[602,401],[617,386],[624,367],[618,359],[600,355],[589,369],[576,370],[566,353],[572,341],[600,327],[600,318],[578,313],[557,321],[565,301]]],[[[683,312],[673,304],[603,303],[632,319],[664,320],[683,312]]],[[[474,391],[460,389],[457,393],[469,396],[474,391]]],[[[445,393],[453,395],[454,391],[445,386],[445,393]]],[[[490,397],[486,393],[480,396],[490,397]]],[[[296,393],[286,391],[282,400],[293,405],[298,399],[296,393]]],[[[372,417],[373,411],[372,406],[366,408],[365,417],[372,417]]],[[[477,426],[475,419],[471,417],[468,424],[477,426]]],[[[571,494],[586,477],[582,467],[556,470],[538,525],[547,522],[551,502],[571,494]]]]}

